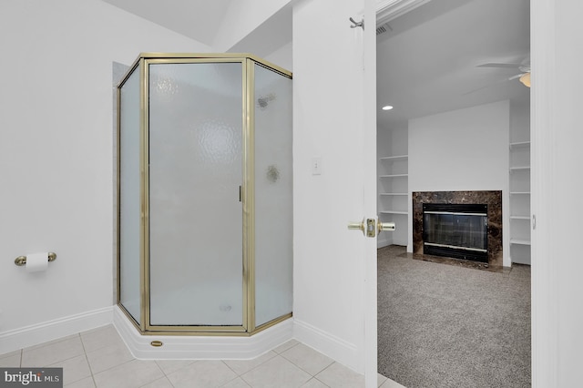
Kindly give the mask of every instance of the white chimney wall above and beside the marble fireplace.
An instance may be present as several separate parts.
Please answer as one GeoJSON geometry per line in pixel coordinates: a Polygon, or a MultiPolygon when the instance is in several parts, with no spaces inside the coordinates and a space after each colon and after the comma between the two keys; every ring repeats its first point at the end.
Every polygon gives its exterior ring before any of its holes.
{"type": "MultiPolygon", "coordinates": [[[[502,190],[502,228],[509,230],[509,126],[507,100],[409,120],[409,191],[502,190]]],[[[508,233],[503,236],[509,266],[508,233]]]]}

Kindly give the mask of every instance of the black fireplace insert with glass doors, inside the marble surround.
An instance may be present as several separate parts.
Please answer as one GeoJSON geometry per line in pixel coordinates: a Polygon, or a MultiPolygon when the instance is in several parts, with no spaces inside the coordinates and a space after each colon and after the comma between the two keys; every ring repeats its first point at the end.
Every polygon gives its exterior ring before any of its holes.
{"type": "Polygon", "coordinates": [[[488,262],[487,205],[423,204],[424,253],[488,262]]]}

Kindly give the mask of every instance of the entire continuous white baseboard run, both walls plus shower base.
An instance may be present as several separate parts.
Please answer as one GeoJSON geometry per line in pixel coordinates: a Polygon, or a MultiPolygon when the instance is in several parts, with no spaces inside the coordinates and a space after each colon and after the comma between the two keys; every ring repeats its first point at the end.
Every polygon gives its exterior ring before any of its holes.
{"type": "Polygon", "coordinates": [[[85,332],[113,323],[134,357],[142,360],[248,360],[295,338],[336,362],[363,373],[357,347],[328,332],[293,318],[251,337],[141,335],[118,306],[87,311],[53,321],[0,332],[0,354],[85,332]],[[153,347],[152,341],[163,346],[153,347]]]}

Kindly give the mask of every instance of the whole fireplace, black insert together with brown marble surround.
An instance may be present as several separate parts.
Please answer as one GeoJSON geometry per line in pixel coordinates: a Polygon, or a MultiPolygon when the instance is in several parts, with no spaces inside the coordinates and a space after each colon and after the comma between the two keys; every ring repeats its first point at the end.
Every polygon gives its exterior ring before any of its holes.
{"type": "Polygon", "coordinates": [[[476,268],[502,268],[502,191],[411,194],[414,256],[422,260],[451,258],[476,268]],[[461,227],[466,231],[461,232],[461,227]]]}

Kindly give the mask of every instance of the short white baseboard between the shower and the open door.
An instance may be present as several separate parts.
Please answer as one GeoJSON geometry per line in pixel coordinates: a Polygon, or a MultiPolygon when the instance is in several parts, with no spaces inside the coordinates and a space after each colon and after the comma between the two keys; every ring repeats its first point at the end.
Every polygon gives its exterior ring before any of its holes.
{"type": "Polygon", "coordinates": [[[346,342],[329,332],[323,332],[309,323],[298,320],[295,320],[293,325],[293,338],[322,352],[332,360],[342,363],[356,373],[364,373],[362,353],[351,342],[346,342]]]}

